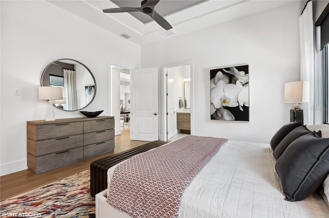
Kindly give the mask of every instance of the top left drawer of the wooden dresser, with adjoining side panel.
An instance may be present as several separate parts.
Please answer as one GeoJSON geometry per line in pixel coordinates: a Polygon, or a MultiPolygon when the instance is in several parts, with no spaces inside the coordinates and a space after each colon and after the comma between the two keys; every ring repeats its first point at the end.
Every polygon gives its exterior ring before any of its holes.
{"type": "Polygon", "coordinates": [[[63,122],[45,125],[27,124],[27,138],[43,140],[83,134],[83,122],[63,122]]]}

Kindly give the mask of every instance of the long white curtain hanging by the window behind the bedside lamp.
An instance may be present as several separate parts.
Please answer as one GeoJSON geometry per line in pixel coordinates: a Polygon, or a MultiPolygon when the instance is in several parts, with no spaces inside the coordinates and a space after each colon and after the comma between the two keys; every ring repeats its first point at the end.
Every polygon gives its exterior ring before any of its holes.
{"type": "Polygon", "coordinates": [[[314,22],[312,1],[299,17],[300,80],[309,81],[309,102],[302,103],[304,124],[314,124],[314,22]]]}

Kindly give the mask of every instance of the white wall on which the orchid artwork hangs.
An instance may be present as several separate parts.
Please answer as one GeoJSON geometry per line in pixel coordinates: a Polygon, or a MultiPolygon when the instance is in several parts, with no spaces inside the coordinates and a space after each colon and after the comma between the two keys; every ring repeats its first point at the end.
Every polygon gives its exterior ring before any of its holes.
{"type": "Polygon", "coordinates": [[[284,103],[283,92],[285,82],[299,79],[300,12],[296,2],[142,46],[141,67],[193,60],[194,135],[269,143],[289,122],[292,105],[284,103]],[[249,64],[250,122],[210,121],[209,69],[244,63],[249,64]]]}

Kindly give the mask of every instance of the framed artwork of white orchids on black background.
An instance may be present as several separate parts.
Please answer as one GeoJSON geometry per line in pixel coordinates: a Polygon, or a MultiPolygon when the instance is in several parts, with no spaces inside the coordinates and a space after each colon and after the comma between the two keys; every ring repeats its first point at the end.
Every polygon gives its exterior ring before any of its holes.
{"type": "Polygon", "coordinates": [[[210,70],[210,120],[249,122],[249,65],[210,70]]]}

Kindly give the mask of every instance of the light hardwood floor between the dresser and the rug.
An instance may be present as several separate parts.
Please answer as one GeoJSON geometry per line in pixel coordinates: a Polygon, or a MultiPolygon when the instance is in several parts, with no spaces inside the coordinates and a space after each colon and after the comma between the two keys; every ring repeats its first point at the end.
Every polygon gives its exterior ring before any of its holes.
{"type": "Polygon", "coordinates": [[[8,199],[17,194],[74,175],[75,173],[89,169],[90,163],[95,160],[148,143],[147,141],[130,140],[130,130],[127,128],[125,128],[124,131],[123,128],[121,128],[121,130],[121,135],[115,136],[115,149],[112,152],[43,172],[38,175],[25,169],[0,177],[0,200],[8,199]]]}

